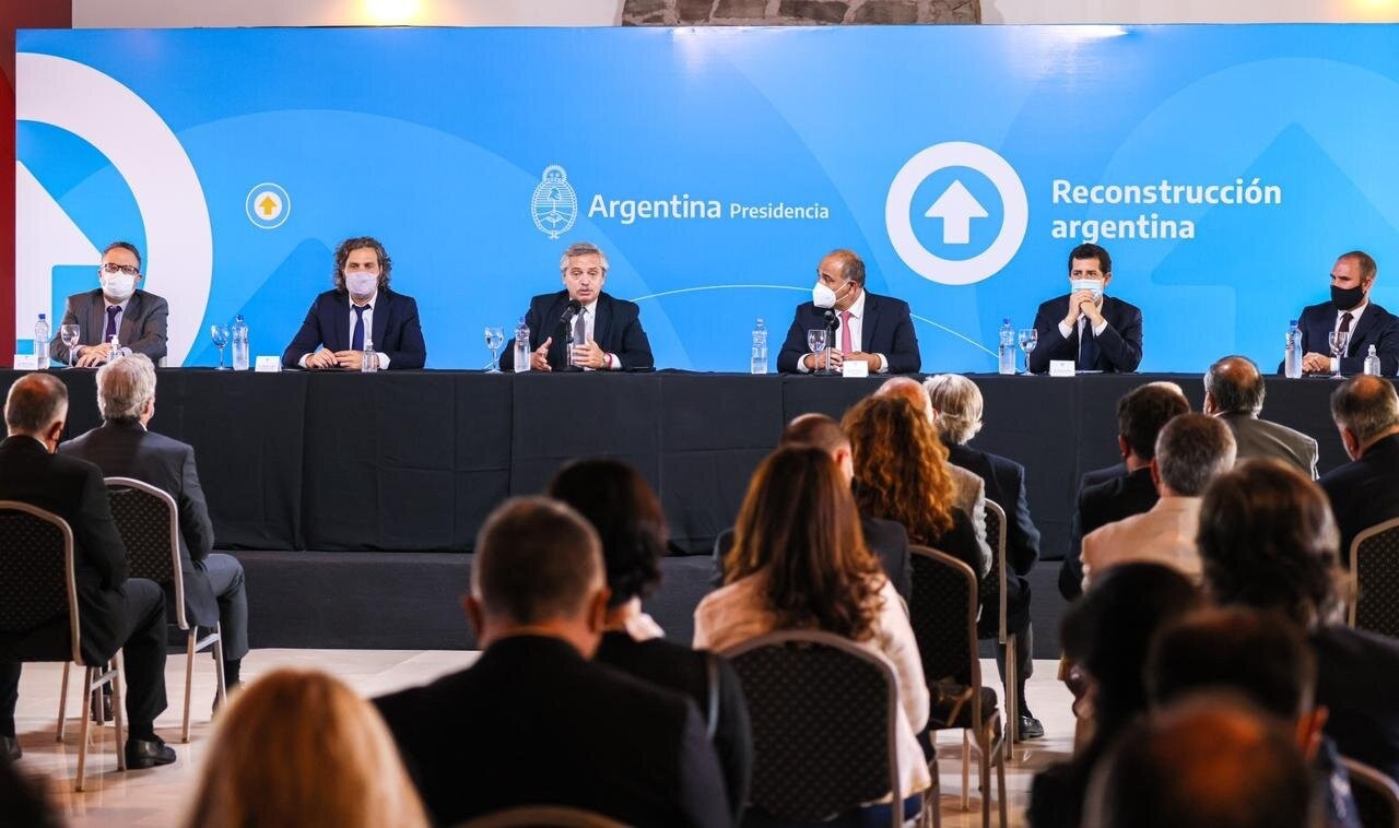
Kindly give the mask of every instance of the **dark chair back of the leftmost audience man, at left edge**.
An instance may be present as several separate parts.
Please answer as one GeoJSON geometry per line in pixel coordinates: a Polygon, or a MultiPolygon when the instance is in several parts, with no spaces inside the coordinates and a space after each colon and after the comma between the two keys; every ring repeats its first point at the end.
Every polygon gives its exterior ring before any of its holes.
{"type": "Polygon", "coordinates": [[[29,504],[0,501],[0,632],[25,632],[59,617],[81,663],[73,529],[29,504]]]}

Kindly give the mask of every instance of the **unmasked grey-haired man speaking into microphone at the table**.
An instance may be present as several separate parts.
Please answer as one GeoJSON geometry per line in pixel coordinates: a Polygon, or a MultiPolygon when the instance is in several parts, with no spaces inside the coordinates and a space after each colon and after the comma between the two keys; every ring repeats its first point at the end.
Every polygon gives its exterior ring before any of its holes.
{"type": "MultiPolygon", "coordinates": [[[[530,299],[532,371],[635,371],[655,366],[635,302],[603,292],[607,255],[590,242],[569,245],[558,260],[564,290],[530,299]]],[[[515,368],[505,348],[501,369],[515,368]]]]}

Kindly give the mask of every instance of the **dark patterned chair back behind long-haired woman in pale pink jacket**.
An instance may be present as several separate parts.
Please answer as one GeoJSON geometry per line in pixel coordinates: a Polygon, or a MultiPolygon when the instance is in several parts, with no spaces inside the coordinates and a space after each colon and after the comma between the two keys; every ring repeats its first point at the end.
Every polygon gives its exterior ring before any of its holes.
{"type": "Polygon", "coordinates": [[[887,662],[810,629],[771,632],[720,655],[739,674],[753,724],[748,806],[802,822],[890,792],[898,799],[898,685],[887,662]]]}

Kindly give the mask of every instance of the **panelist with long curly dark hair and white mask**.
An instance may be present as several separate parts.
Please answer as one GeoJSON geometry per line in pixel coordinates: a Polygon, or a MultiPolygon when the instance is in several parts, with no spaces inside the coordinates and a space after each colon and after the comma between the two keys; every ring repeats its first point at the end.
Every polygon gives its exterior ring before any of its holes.
{"type": "Polygon", "coordinates": [[[393,260],[378,239],[357,236],[336,248],[336,287],[316,297],[287,345],[287,368],[360,371],[372,345],[379,368],[422,368],[428,358],[418,304],[389,290],[393,260]]]}

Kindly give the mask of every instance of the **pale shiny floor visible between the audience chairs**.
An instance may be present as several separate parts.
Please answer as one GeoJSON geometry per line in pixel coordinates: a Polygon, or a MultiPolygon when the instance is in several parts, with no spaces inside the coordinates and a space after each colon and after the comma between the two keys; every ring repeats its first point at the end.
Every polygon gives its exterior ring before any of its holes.
{"type": "MultiPolygon", "coordinates": [[[[340,676],[364,695],[378,695],[400,687],[421,684],[443,673],[459,670],[474,659],[474,653],[445,650],[255,650],[243,662],[243,678],[256,678],[274,667],[316,667],[340,676]]],[[[1046,734],[1017,745],[1006,765],[1006,787],[1010,801],[1010,824],[1024,824],[1024,806],[1031,775],[1045,764],[1066,757],[1073,741],[1070,697],[1055,681],[1055,662],[1037,662],[1027,695],[1035,715],[1045,723],[1046,734]]],[[[166,666],[166,687],[171,688],[171,708],[157,722],[157,731],[179,752],[179,761],[150,771],[116,771],[112,726],[97,731],[88,751],[87,792],[73,792],[77,769],[77,722],[70,720],[66,743],[55,741],[62,667],[31,664],[20,683],[20,706],[15,724],[24,747],[20,768],[27,773],[49,778],[49,790],[74,827],[112,825],[176,825],[193,793],[204,745],[210,736],[210,702],[214,695],[214,670],[206,656],[194,666],[194,715],[189,744],[179,744],[180,704],[185,687],[183,657],[171,657],[166,666]]],[[[983,674],[996,676],[990,662],[982,664],[983,674]]],[[[81,674],[77,681],[81,683],[81,674]]],[[[999,691],[999,685],[996,685],[999,691]]],[[[77,713],[78,702],[70,694],[70,712],[77,713]]],[[[971,811],[961,810],[961,738],[951,734],[940,741],[943,783],[943,825],[960,828],[981,821],[977,797],[977,773],[972,768],[971,811]]],[[[993,803],[995,804],[995,803],[993,803]]],[[[995,808],[992,811],[995,822],[995,808]]]]}

